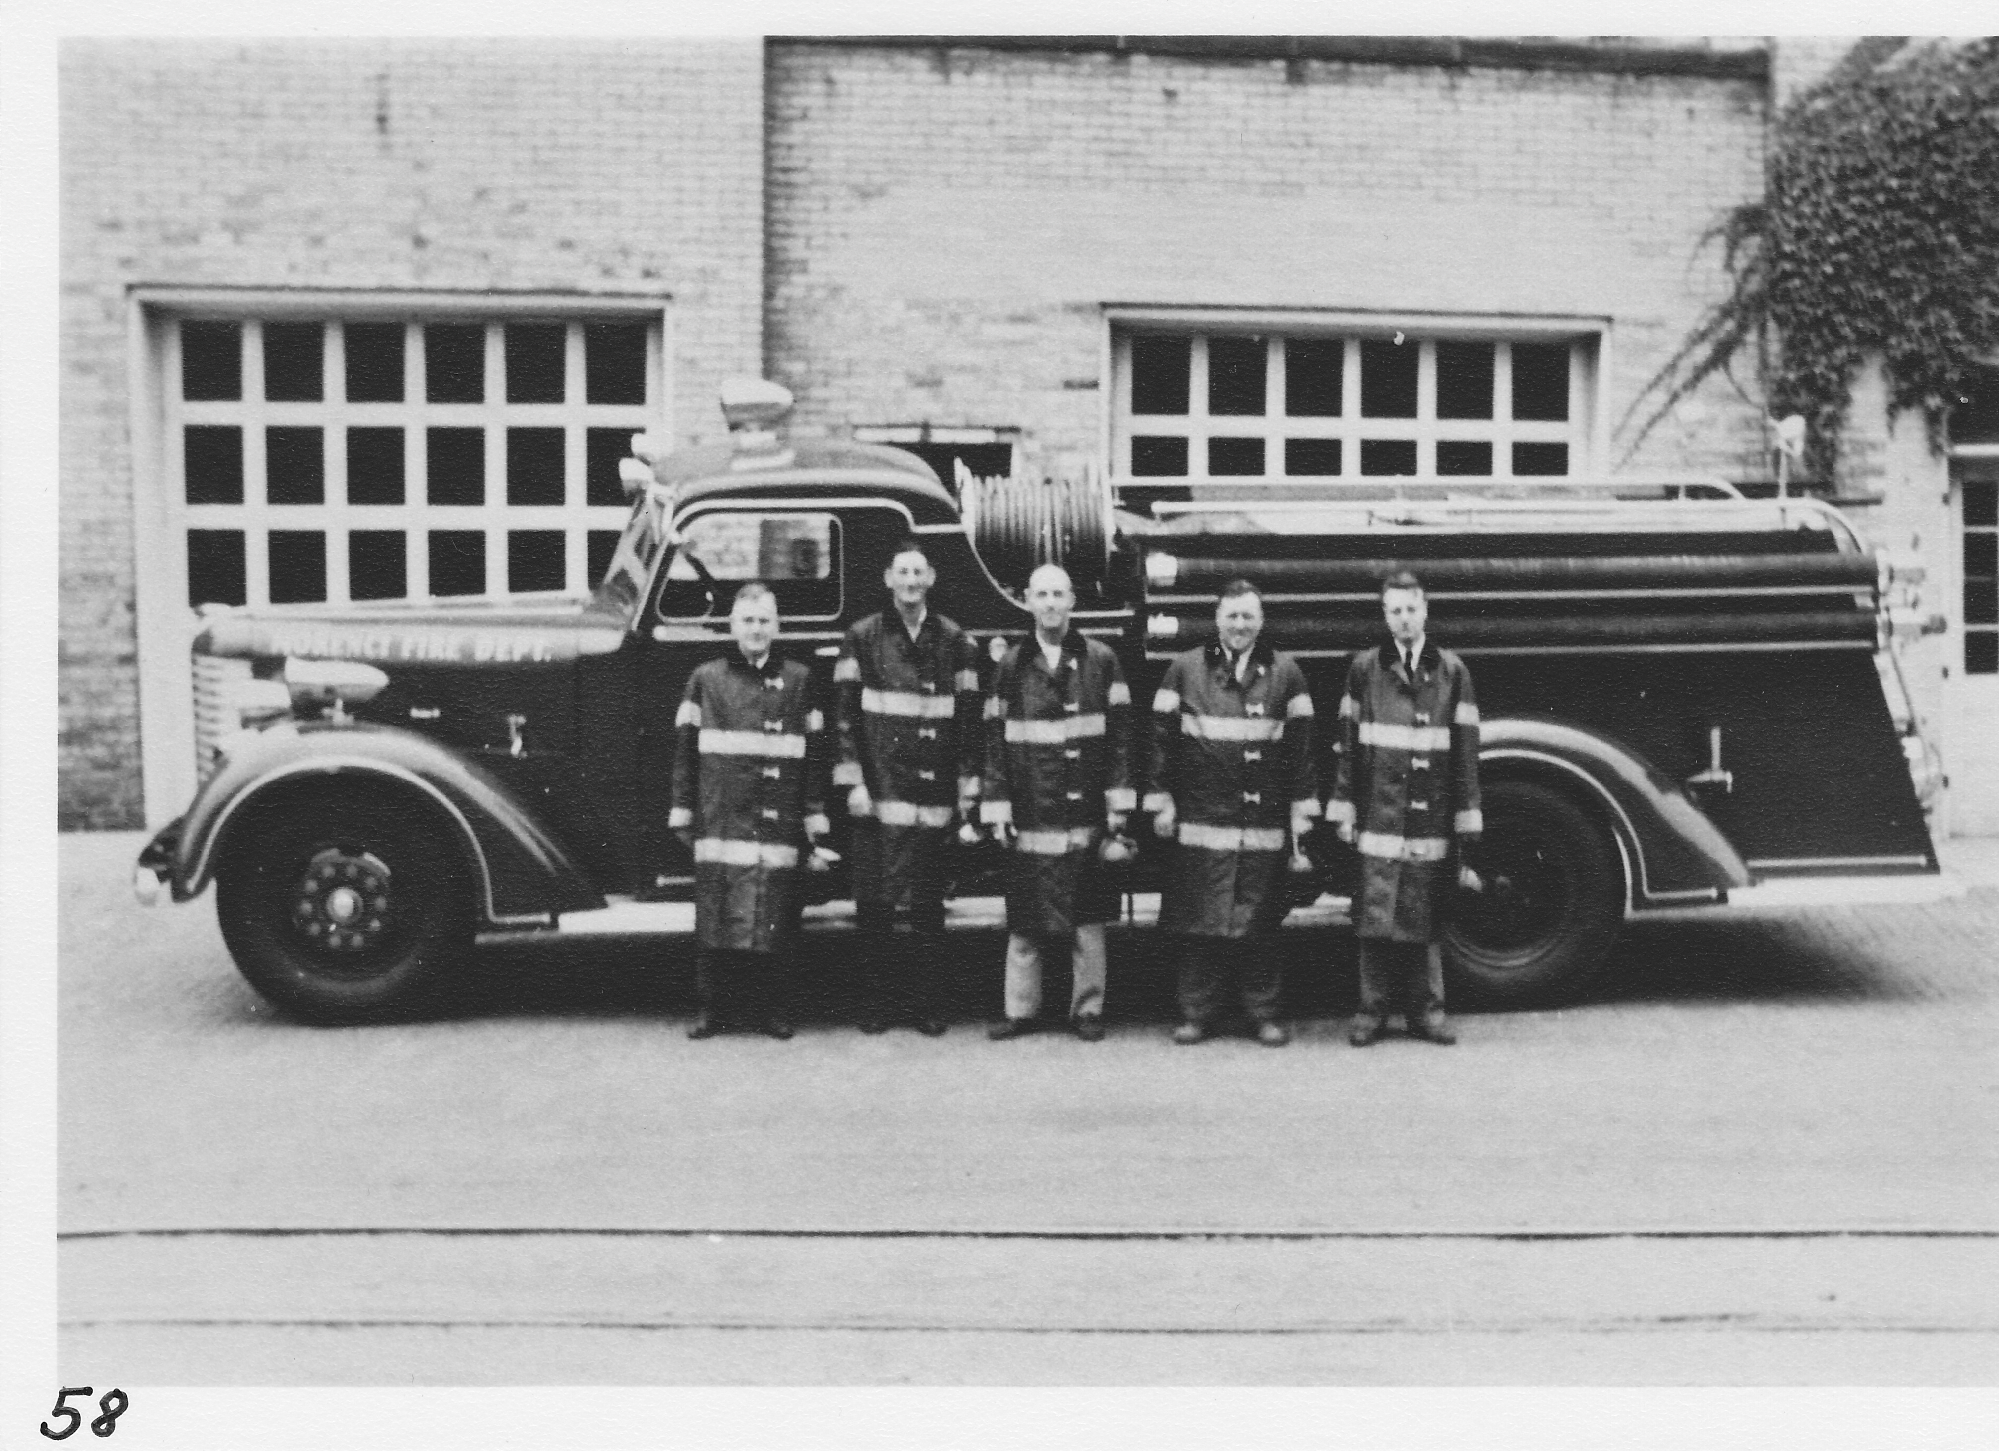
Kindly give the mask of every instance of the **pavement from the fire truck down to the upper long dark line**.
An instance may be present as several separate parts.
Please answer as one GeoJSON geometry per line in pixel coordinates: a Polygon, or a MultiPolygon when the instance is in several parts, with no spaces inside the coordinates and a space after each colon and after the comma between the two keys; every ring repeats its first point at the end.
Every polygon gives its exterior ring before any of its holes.
{"type": "Polygon", "coordinates": [[[302,1027],[242,981],[212,903],[132,901],[136,845],[62,841],[70,1231],[1993,1227],[1993,887],[1637,919],[1583,1001],[1471,1013],[1449,1053],[1345,1047],[1353,943],[1311,931],[1279,1053],[1173,1047],[1149,931],[1113,951],[1093,1047],[984,1041],[990,931],[946,963],[946,1039],[854,1033],[826,939],[796,1043],[692,1045],[684,953],[642,939],[484,953],[432,1021],[302,1027]]]}

